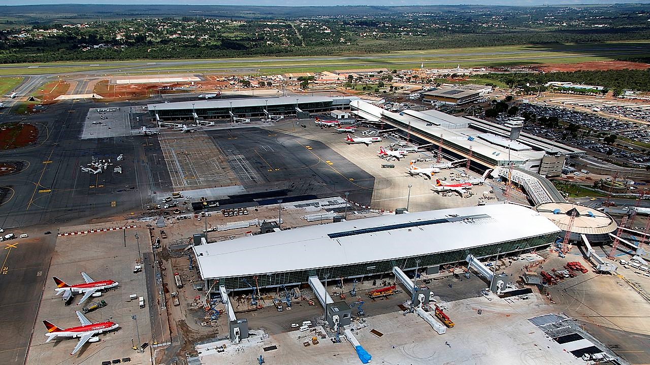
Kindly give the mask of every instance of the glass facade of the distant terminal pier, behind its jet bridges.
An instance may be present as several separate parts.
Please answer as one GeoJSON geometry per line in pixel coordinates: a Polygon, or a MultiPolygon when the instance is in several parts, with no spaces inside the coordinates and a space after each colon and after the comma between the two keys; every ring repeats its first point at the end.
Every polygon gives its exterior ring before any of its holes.
{"type": "MultiPolygon", "coordinates": [[[[155,114],[158,113],[161,120],[190,120],[193,118],[192,110],[196,112],[199,118],[214,120],[214,119],[227,119],[230,118],[232,111],[235,116],[239,118],[257,118],[264,117],[264,110],[266,109],[272,115],[288,115],[296,114],[296,103],[287,103],[283,105],[265,105],[264,99],[257,99],[260,105],[252,105],[247,107],[230,107],[227,100],[223,103],[224,107],[215,108],[178,108],[178,109],[158,109],[151,108],[149,116],[151,120],[155,120],[155,114]]],[[[315,103],[298,103],[298,108],[304,112],[328,112],[332,108],[331,101],[319,101],[315,103]]]]}

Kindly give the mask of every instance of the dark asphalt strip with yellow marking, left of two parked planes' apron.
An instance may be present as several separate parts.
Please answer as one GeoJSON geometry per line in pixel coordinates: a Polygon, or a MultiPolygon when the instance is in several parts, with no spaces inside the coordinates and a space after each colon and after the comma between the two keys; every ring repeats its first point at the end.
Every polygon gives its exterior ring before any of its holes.
{"type": "Polygon", "coordinates": [[[42,323],[34,321],[56,238],[56,234],[31,234],[27,239],[1,242],[0,364],[23,364],[32,328],[33,336],[45,333],[42,323]]]}

